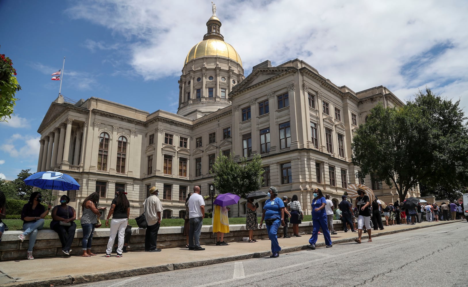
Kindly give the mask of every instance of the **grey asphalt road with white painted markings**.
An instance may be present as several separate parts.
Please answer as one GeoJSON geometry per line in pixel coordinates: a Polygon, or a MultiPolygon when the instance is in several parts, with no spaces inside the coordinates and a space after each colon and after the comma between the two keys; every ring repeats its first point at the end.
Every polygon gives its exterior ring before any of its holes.
{"type": "MultiPolygon", "coordinates": [[[[468,222],[217,265],[107,280],[84,287],[468,286],[468,222]]],[[[304,236],[304,241],[307,242],[304,236]]]]}

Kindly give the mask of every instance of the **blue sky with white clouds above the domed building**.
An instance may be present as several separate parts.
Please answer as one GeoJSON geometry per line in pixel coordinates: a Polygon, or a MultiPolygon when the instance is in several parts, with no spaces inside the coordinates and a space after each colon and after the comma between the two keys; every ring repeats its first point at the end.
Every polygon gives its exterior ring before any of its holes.
{"type": "MultiPolygon", "coordinates": [[[[388,87],[402,100],[427,85],[468,104],[466,1],[216,1],[221,34],[247,77],[264,60],[300,58],[335,84],[388,87]]],[[[148,112],[177,111],[190,48],[206,33],[211,1],[0,1],[0,54],[18,72],[15,114],[0,123],[0,177],[37,169],[37,128],[59,93],[148,112]]]]}

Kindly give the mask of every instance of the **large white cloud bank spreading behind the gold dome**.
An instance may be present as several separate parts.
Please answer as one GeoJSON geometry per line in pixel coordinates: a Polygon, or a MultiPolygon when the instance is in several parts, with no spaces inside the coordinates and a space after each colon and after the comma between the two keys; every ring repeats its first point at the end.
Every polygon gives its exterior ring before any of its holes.
{"type": "MultiPolygon", "coordinates": [[[[211,5],[202,3],[88,0],[67,12],[124,36],[133,69],[153,80],[180,76],[184,57],[206,33],[211,5]]],[[[267,59],[278,65],[300,58],[354,91],[384,85],[405,99],[429,85],[448,98],[468,98],[461,88],[468,83],[468,29],[460,25],[468,2],[251,0],[217,7],[245,75],[267,59]],[[450,45],[431,54],[440,43],[450,45]]]]}

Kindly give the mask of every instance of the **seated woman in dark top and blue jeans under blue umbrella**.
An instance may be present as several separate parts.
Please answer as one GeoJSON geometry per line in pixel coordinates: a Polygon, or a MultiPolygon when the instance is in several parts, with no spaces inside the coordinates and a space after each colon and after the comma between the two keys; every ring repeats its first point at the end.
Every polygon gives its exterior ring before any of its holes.
{"type": "Polygon", "coordinates": [[[33,260],[32,250],[34,244],[36,244],[37,231],[44,227],[44,217],[49,214],[52,205],[49,204],[47,210],[44,205],[41,204],[42,194],[35,191],[29,196],[28,203],[24,204],[23,210],[21,211],[21,219],[23,221],[24,232],[18,236],[18,239],[23,242],[26,235],[29,234],[29,245],[28,245],[28,260],[33,260]]]}

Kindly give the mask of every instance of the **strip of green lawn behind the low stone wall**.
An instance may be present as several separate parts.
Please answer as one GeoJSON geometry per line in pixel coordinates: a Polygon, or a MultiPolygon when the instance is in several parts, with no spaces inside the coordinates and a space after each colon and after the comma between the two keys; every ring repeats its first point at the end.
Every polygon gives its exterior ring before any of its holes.
{"type": "MultiPolygon", "coordinates": [[[[261,217],[258,217],[258,222],[260,222],[261,217]]],[[[312,216],[306,215],[304,216],[304,220],[302,221],[311,221],[312,216]]],[[[50,229],[51,219],[46,219],[44,224],[44,229],[50,229]]],[[[211,225],[211,218],[204,218],[203,225],[211,225]]],[[[21,219],[3,219],[3,222],[7,224],[9,230],[22,230],[23,221],[21,219]]],[[[163,219],[161,221],[161,226],[183,226],[183,218],[168,218],[163,219]]],[[[81,228],[80,220],[75,220],[76,227],[81,228]]],[[[105,220],[101,220],[102,227],[105,227],[105,220]]],[[[132,227],[138,227],[137,222],[135,219],[130,219],[128,224],[132,225],[132,227]]],[[[232,217],[229,218],[229,224],[245,224],[245,217],[232,217]]]]}

